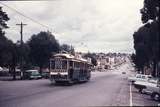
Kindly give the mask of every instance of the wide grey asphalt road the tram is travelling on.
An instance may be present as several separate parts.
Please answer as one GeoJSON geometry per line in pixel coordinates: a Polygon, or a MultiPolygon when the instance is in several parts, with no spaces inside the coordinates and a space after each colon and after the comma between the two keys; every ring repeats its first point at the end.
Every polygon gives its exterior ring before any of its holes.
{"type": "Polygon", "coordinates": [[[157,105],[130,87],[130,71],[131,65],[125,63],[114,70],[92,72],[89,82],[72,86],[51,85],[47,79],[0,81],[0,107],[157,105]]]}

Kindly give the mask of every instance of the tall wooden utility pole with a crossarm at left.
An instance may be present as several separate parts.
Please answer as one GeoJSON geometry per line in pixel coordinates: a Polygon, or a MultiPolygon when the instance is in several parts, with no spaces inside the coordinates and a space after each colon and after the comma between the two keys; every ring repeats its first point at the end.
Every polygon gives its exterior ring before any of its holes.
{"type": "Polygon", "coordinates": [[[17,26],[20,26],[20,35],[21,35],[21,41],[20,41],[20,47],[21,47],[21,56],[20,56],[20,69],[21,69],[21,79],[23,79],[23,73],[24,73],[24,70],[23,70],[23,52],[22,52],[22,49],[23,49],[23,26],[26,26],[27,24],[24,24],[24,23],[20,23],[20,24],[16,24],[17,26]]]}

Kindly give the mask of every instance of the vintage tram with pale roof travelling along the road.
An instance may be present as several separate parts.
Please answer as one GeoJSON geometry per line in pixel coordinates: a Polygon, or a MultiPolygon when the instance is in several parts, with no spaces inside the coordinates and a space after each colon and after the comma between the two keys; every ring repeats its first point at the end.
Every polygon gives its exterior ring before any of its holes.
{"type": "Polygon", "coordinates": [[[77,83],[89,81],[92,64],[83,58],[67,53],[58,53],[50,58],[51,82],[77,83]]]}

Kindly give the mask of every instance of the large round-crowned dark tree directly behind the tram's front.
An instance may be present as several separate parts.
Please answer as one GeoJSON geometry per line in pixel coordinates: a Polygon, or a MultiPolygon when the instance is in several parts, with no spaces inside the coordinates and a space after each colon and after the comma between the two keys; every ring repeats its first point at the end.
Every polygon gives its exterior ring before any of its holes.
{"type": "Polygon", "coordinates": [[[58,41],[50,32],[34,34],[27,44],[30,47],[31,62],[40,67],[40,73],[42,73],[43,67],[49,65],[49,58],[52,53],[60,50],[58,41]]]}

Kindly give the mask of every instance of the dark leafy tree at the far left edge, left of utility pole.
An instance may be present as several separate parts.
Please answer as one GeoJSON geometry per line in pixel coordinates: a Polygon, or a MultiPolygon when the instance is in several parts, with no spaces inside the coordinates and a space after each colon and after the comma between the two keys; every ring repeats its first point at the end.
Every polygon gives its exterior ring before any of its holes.
{"type": "Polygon", "coordinates": [[[5,37],[4,29],[9,28],[6,22],[9,20],[6,12],[0,7],[0,66],[9,67],[13,79],[16,79],[15,68],[17,65],[17,49],[16,45],[5,37]]]}

